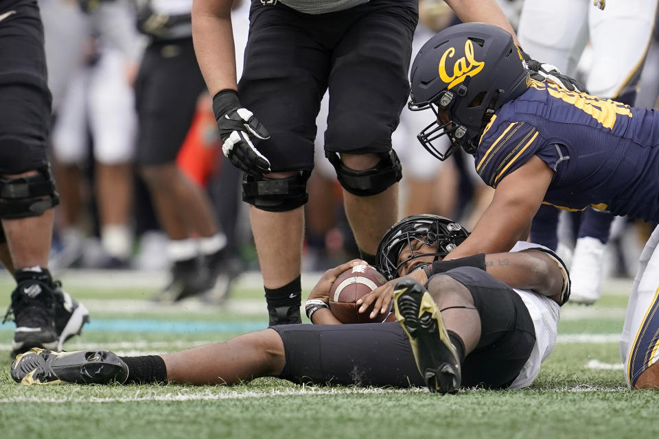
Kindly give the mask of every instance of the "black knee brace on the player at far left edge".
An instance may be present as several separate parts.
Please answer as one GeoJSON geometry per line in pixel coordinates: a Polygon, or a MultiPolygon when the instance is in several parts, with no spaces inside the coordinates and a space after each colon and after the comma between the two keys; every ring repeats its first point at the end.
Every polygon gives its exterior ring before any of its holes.
{"type": "Polygon", "coordinates": [[[0,178],[0,218],[38,217],[58,202],[48,167],[33,176],[0,178]]]}

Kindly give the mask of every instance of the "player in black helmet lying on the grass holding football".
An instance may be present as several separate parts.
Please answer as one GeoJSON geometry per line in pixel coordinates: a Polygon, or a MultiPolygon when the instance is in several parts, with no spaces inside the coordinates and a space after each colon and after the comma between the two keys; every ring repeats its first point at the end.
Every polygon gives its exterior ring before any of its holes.
{"type": "Polygon", "coordinates": [[[19,355],[19,383],[233,384],[256,377],[294,383],[409,386],[455,392],[460,385],[530,385],[556,340],[559,305],[569,296],[564,264],[550,250],[520,242],[511,252],[441,261],[469,234],[437,215],[402,219],[384,235],[378,261],[398,278],[397,322],[340,324],[327,307],[337,276],[328,270],[306,306],[314,324],[279,325],[227,342],[164,355],[108,351],[19,355]],[[416,279],[430,275],[426,285],[416,279]],[[320,306],[318,304],[321,304],[320,306]]]}

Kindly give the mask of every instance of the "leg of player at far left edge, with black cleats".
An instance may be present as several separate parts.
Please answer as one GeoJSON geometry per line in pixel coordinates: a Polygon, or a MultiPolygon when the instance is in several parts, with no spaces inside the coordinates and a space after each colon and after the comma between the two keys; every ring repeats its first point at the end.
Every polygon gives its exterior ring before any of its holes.
{"type": "Polygon", "coordinates": [[[16,322],[12,356],[54,348],[80,331],[86,309],[48,271],[53,207],[47,158],[51,94],[43,27],[34,0],[0,4],[0,260],[16,279],[3,322],[16,322]]]}

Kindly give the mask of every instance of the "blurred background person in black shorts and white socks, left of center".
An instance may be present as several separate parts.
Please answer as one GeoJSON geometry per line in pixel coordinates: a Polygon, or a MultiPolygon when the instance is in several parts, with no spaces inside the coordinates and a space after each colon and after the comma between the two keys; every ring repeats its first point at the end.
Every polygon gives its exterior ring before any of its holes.
{"type": "MultiPolygon", "coordinates": [[[[161,300],[180,300],[215,285],[227,237],[207,193],[176,165],[176,156],[205,93],[192,47],[192,0],[139,3],[139,29],[150,40],[135,93],[139,117],[137,166],[167,234],[172,281],[161,300]]],[[[220,294],[222,295],[222,294],[220,294]]]]}

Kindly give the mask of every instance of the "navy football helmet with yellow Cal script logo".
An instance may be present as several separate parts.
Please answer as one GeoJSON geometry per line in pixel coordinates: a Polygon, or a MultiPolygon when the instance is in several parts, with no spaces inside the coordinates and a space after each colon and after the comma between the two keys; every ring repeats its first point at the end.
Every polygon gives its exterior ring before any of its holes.
{"type": "Polygon", "coordinates": [[[421,47],[410,74],[408,107],[431,108],[436,116],[417,135],[421,145],[441,161],[460,147],[475,154],[485,116],[524,93],[528,75],[513,37],[500,27],[463,23],[439,32],[421,47]],[[432,141],[444,134],[451,145],[441,152],[432,141]]]}

